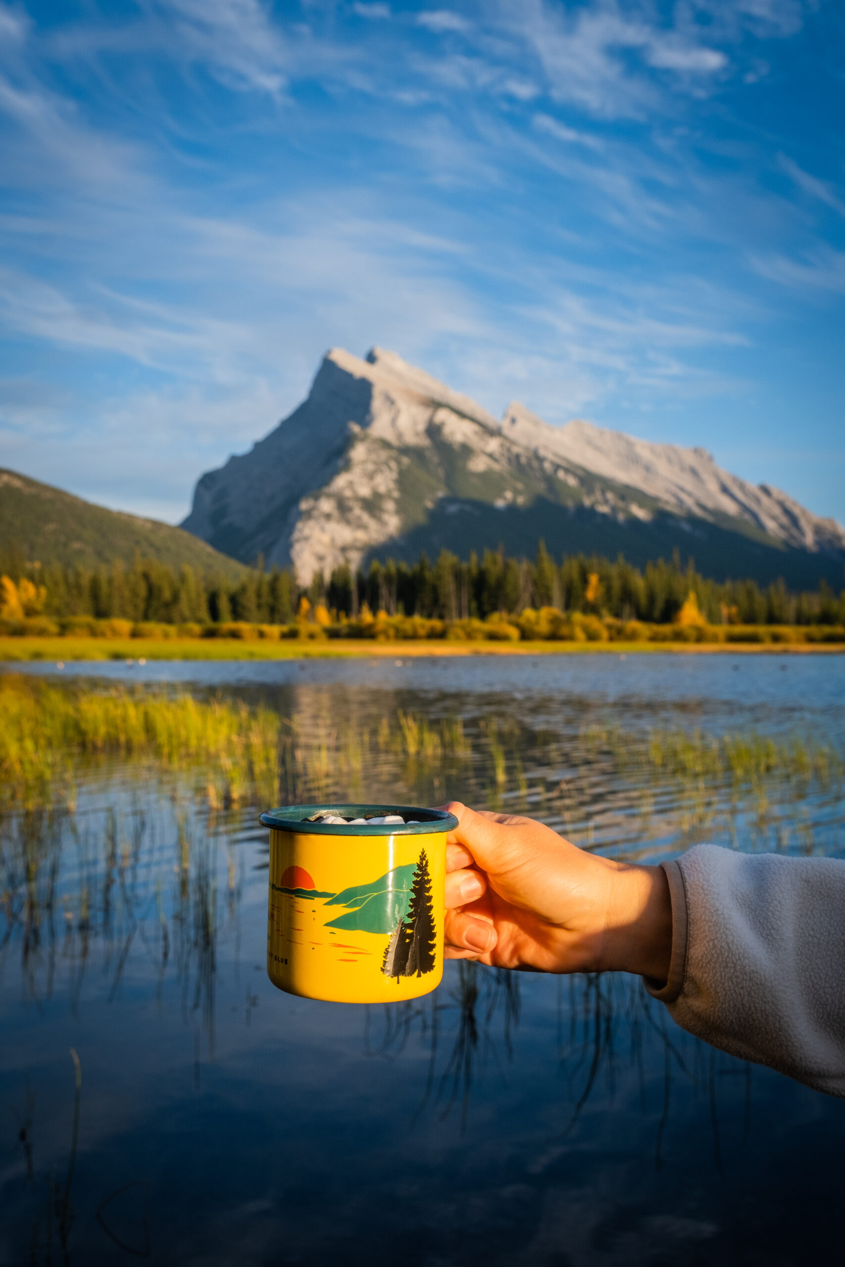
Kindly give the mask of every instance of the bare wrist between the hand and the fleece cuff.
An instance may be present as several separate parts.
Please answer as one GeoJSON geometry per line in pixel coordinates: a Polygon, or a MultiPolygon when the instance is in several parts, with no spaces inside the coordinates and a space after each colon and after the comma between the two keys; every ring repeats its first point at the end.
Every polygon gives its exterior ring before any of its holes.
{"type": "Polygon", "coordinates": [[[617,863],[602,940],[602,969],[666,981],[671,897],[663,867],[617,863]]]}

